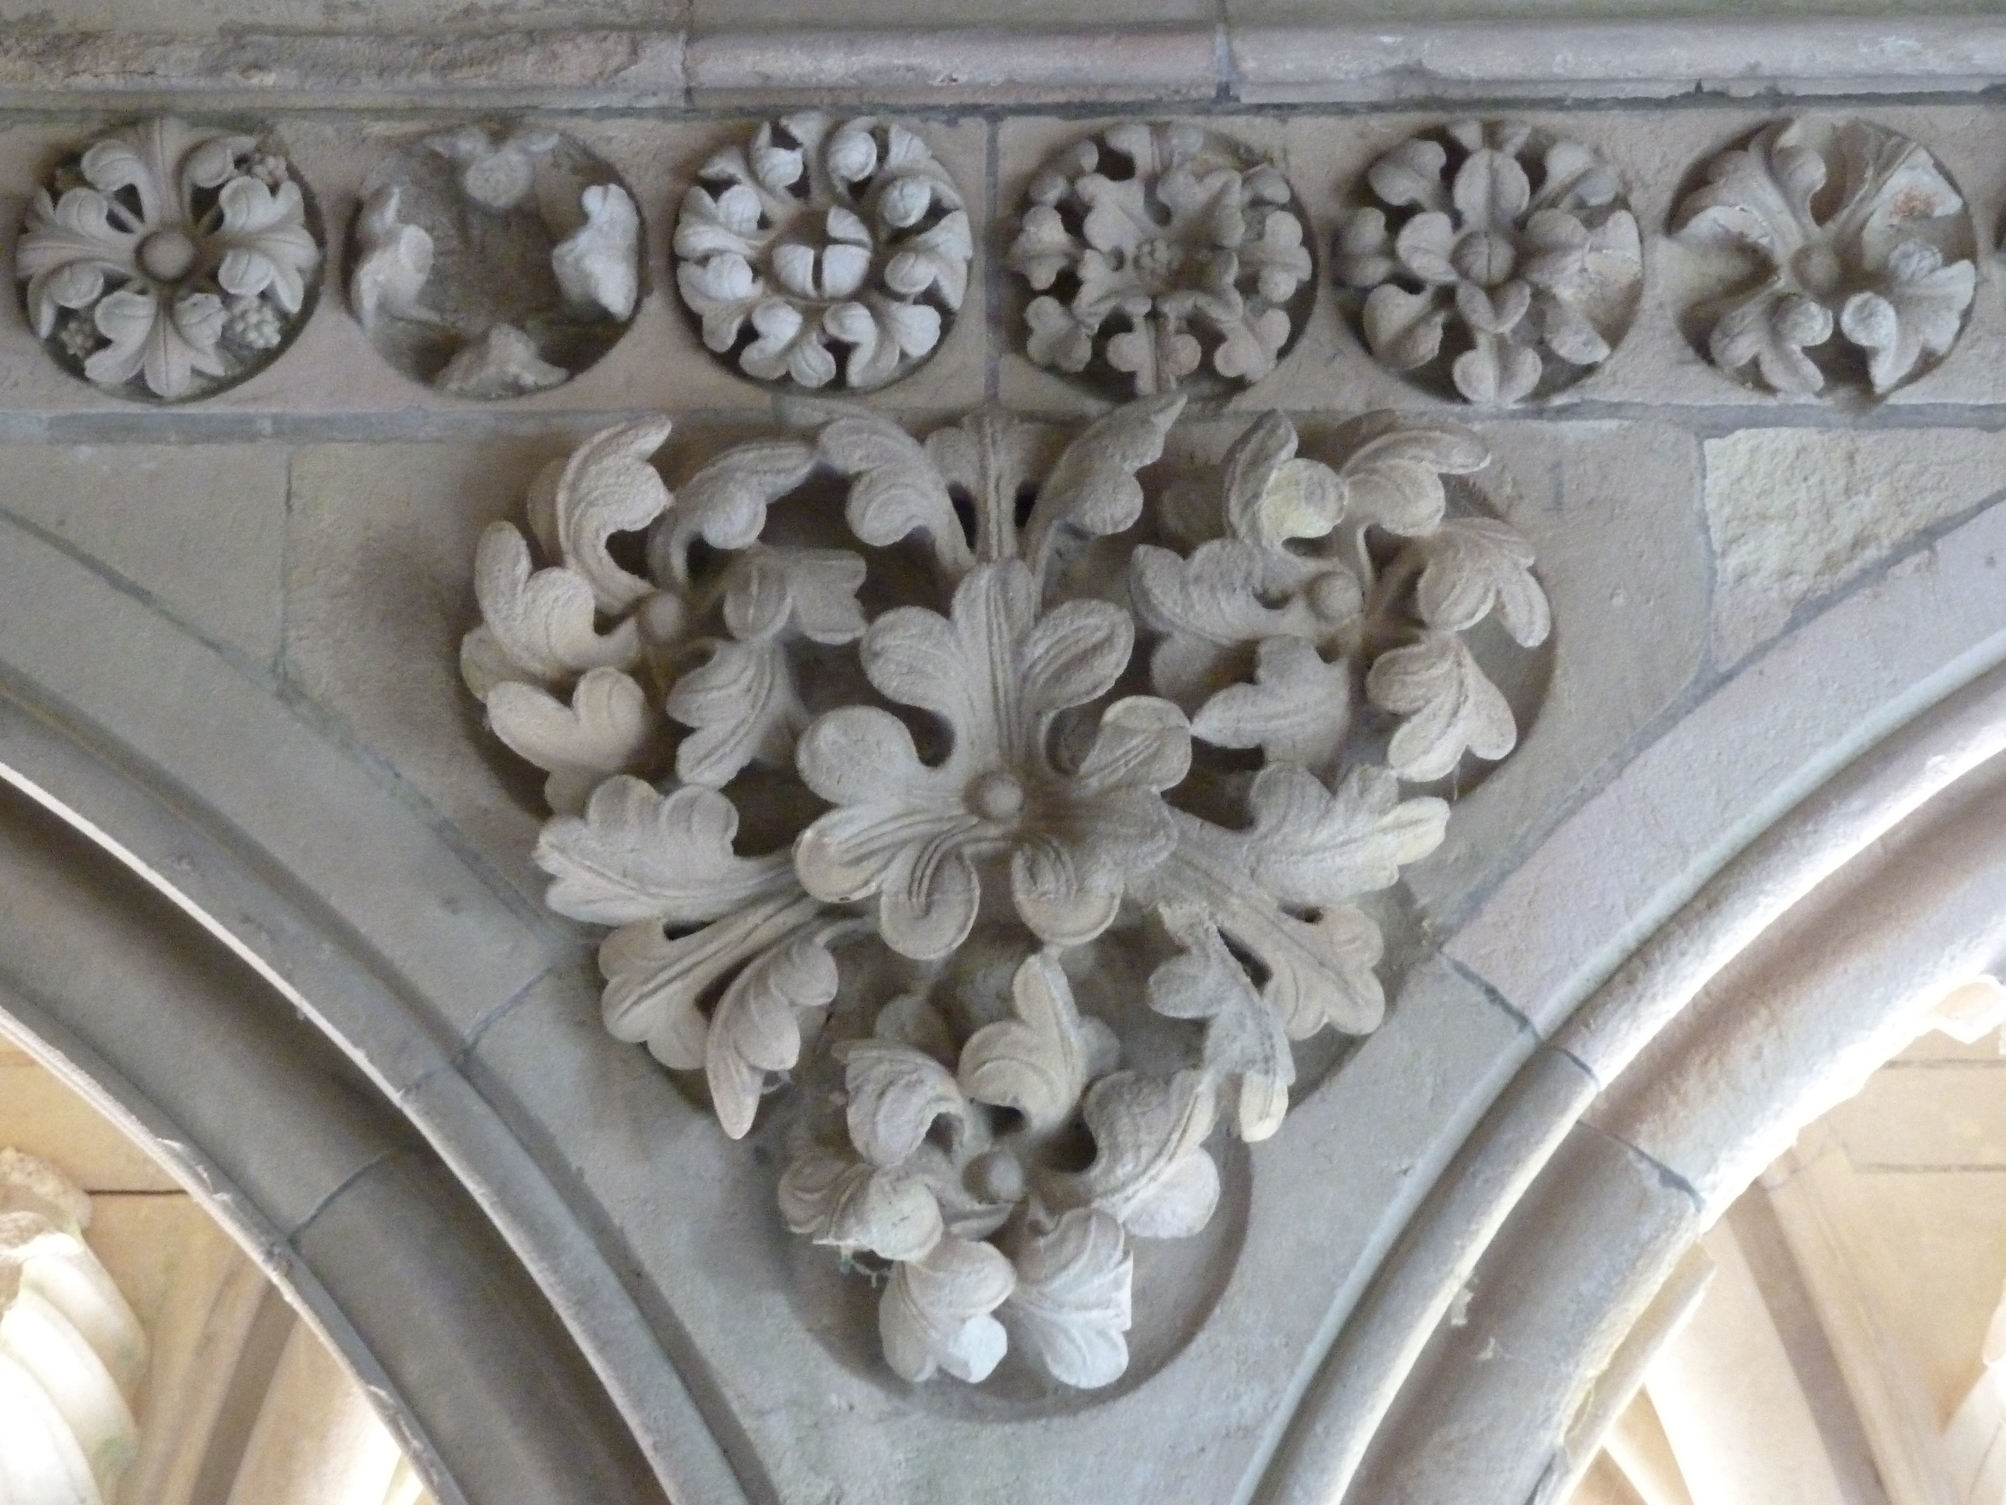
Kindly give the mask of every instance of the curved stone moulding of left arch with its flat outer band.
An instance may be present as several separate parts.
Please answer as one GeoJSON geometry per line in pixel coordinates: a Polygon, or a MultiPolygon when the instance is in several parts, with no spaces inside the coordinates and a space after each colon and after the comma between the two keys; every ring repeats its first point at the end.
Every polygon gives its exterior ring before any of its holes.
{"type": "MultiPolygon", "coordinates": [[[[98,576],[18,526],[0,530],[14,600],[26,602],[38,578],[48,604],[80,590],[108,610],[106,628],[136,608],[116,606],[98,576]]],[[[70,680],[46,654],[80,622],[22,610],[0,628],[12,638],[0,650],[0,797],[16,805],[0,819],[10,869],[0,887],[38,903],[10,899],[0,1009],[136,1138],[169,1148],[189,1190],[389,1399],[441,1505],[556,1503],[578,1491],[652,1501],[662,1489],[748,1499],[656,1328],[453,1062],[455,1011],[471,1017],[475,995],[493,1005],[532,983],[546,965],[540,937],[269,692],[136,610],[148,620],[122,618],[134,630],[128,648],[144,638],[140,656],[166,656],[150,670],[177,686],[171,694],[219,716],[213,730],[225,742],[207,757],[223,757],[235,736],[265,746],[275,771],[317,763],[345,819],[377,817],[357,829],[353,857],[369,851],[373,863],[409,871],[437,915],[471,925],[461,943],[495,965],[483,977],[459,969],[473,991],[455,997],[443,955],[427,963],[411,951],[423,923],[385,929],[389,911],[359,903],[369,887],[361,867],[343,879],[293,845],[321,843],[331,807],[291,839],[259,829],[235,797],[219,807],[217,787],[197,787],[205,755],[152,740],[193,726],[169,730],[175,718],[146,704],[146,670],[122,686],[70,680]],[[22,815],[32,807],[80,841],[54,855],[38,849],[34,815],[22,815]],[[148,887],[158,895],[150,909],[148,887]],[[94,973],[98,951],[122,969],[94,973]],[[203,965],[183,965],[187,955],[203,965]],[[301,1015],[327,1054],[285,1037],[301,1015]],[[201,1058],[201,1086],[191,1062],[177,1066],[160,1045],[177,1031],[217,1051],[201,1058]],[[367,1084],[367,1102],[329,1090],[343,1074],[367,1084]],[[556,1310],[520,1320],[536,1288],[556,1310]]],[[[223,783],[249,795],[241,773],[223,783]]],[[[277,785],[263,797],[285,799],[277,785]]]]}

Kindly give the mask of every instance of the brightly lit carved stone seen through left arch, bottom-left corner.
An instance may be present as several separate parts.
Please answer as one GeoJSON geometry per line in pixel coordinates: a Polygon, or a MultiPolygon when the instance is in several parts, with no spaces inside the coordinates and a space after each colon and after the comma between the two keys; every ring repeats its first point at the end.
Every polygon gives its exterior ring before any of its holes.
{"type": "Polygon", "coordinates": [[[90,1252],[90,1198],[0,1150],[0,1501],[106,1505],[138,1451],[146,1334],[90,1252]]]}

